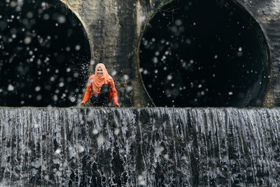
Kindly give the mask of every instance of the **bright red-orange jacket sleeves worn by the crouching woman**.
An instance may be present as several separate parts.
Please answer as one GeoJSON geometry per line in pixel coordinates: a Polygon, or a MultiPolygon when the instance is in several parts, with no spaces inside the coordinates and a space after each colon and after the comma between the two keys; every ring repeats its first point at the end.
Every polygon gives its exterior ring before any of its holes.
{"type": "MultiPolygon", "coordinates": [[[[87,81],[87,90],[85,91],[85,96],[83,97],[83,102],[88,101],[88,97],[91,95],[94,95],[95,93],[92,91],[92,82],[93,82],[93,76],[90,76],[87,81]]],[[[111,79],[111,82],[108,83],[109,89],[110,89],[110,97],[109,97],[109,102],[112,101],[113,103],[116,104],[118,103],[118,92],[115,88],[115,83],[113,82],[113,78],[111,79]]]]}

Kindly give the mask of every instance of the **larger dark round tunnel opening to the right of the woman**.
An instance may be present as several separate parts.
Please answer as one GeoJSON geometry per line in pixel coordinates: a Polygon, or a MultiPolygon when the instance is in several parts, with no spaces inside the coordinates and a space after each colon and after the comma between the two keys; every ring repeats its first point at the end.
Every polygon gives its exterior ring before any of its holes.
{"type": "Polygon", "coordinates": [[[156,106],[261,106],[269,48],[236,1],[172,1],[146,25],[140,72],[156,106]]]}

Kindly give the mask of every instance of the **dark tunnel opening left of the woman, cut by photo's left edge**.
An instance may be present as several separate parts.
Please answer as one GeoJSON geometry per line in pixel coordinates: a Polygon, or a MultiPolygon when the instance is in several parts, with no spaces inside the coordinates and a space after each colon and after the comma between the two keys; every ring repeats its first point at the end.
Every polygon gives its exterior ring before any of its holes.
{"type": "Polygon", "coordinates": [[[61,1],[0,1],[1,106],[75,106],[89,61],[85,29],[61,1]]]}

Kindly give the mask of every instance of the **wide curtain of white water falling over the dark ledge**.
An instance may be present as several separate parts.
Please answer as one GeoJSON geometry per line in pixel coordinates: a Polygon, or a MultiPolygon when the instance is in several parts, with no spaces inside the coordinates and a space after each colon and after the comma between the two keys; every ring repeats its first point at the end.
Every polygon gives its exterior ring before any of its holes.
{"type": "Polygon", "coordinates": [[[0,186],[276,186],[280,109],[0,108],[0,186]]]}

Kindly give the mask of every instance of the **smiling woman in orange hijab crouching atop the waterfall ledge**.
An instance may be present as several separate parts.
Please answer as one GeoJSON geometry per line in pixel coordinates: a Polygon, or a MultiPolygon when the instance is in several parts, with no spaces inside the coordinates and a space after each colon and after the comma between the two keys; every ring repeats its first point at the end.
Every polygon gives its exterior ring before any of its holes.
{"type": "Polygon", "coordinates": [[[120,107],[118,104],[118,92],[115,88],[113,78],[108,74],[104,64],[99,63],[95,67],[94,75],[90,76],[87,81],[87,90],[83,97],[83,102],[80,102],[80,106],[85,106],[85,102],[90,97],[92,106],[108,106],[112,101],[115,107],[120,107]]]}

